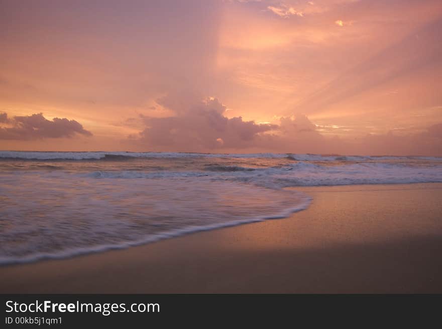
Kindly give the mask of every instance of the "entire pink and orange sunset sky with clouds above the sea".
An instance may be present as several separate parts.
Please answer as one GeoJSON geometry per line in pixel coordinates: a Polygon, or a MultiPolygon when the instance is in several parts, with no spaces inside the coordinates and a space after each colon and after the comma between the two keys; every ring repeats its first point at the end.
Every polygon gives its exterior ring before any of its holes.
{"type": "Polygon", "coordinates": [[[440,0],[0,0],[0,149],[442,156],[440,0]]]}

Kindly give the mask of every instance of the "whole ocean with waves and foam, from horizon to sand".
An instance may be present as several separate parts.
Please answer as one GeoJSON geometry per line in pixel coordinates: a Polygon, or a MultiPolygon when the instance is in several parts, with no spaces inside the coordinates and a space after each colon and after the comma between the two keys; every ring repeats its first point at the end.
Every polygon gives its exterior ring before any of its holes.
{"type": "Polygon", "coordinates": [[[0,264],[283,218],[286,187],[442,182],[442,158],[0,151],[0,264]]]}

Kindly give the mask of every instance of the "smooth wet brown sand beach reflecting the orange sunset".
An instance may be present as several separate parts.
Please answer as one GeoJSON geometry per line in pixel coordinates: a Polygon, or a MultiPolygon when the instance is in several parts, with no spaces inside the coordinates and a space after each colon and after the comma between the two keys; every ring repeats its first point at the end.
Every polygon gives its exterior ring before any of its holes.
{"type": "Polygon", "coordinates": [[[289,218],[3,266],[0,292],[442,292],[442,184],[297,189],[289,218]]]}

